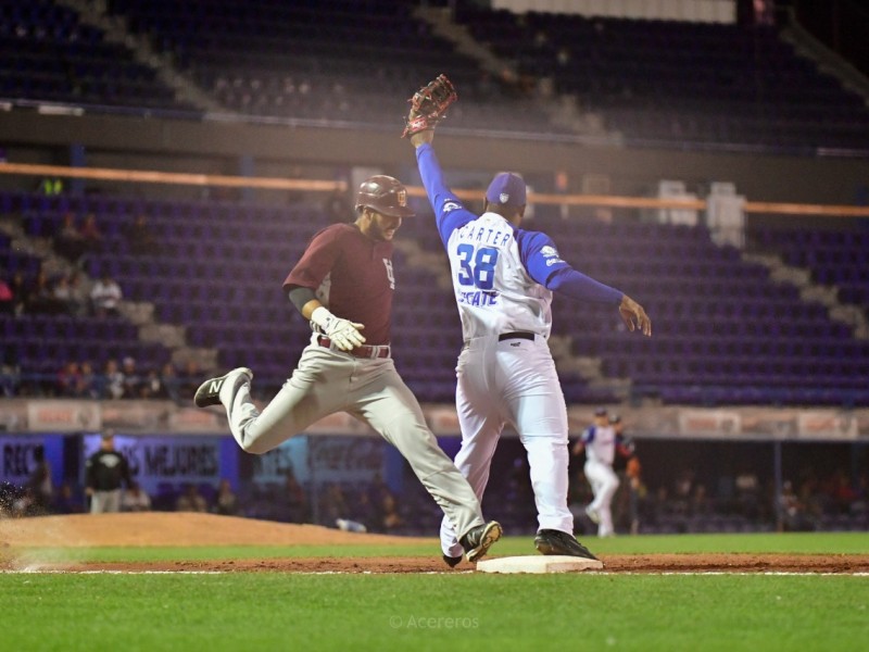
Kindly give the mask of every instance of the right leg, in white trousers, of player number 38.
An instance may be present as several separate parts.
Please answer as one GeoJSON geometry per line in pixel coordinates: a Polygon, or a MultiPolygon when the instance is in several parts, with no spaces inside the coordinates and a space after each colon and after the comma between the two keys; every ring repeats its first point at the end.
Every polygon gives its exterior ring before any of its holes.
{"type": "Polygon", "coordinates": [[[509,379],[503,400],[528,453],[539,529],[574,534],[567,507],[567,408],[545,341],[508,340],[500,344],[500,367],[509,379]],[[505,343],[519,347],[504,348],[505,343]]]}

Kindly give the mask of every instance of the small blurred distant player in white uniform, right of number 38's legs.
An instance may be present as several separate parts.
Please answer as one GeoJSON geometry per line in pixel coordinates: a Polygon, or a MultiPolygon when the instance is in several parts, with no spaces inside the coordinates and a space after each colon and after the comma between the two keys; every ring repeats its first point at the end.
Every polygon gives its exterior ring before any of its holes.
{"type": "Polygon", "coordinates": [[[613,464],[617,454],[626,457],[630,455],[626,443],[616,434],[618,423],[621,423],[620,418],[610,419],[606,409],[599,408],[594,411],[594,424],[585,428],[572,450],[575,455],[585,451],[583,472],[594,493],[594,500],[585,507],[585,514],[597,525],[599,537],[612,537],[616,534],[612,505],[620,480],[613,471],[613,464]]]}

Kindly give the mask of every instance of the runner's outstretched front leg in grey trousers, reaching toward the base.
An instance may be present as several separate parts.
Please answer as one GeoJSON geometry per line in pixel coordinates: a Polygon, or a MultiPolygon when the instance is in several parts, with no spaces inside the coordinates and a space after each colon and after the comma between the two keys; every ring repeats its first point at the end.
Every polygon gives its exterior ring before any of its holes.
{"type": "Polygon", "coordinates": [[[431,434],[416,397],[399,376],[392,360],[373,361],[360,377],[348,410],[366,422],[407,460],[416,477],[453,523],[459,536],[483,524],[480,503],[431,434]]]}

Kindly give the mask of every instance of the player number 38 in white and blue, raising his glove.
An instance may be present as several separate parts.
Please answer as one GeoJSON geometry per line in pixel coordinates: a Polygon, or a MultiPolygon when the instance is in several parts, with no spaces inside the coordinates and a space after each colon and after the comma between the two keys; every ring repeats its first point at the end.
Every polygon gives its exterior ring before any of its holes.
{"type": "MultiPolygon", "coordinates": [[[[546,342],[553,291],[612,303],[630,330],[646,336],[652,323],[624,292],[563,261],[549,236],[519,228],[526,187],[518,175],[501,173],[492,179],[482,215],[465,209],[446,187],[431,145],[434,126],[454,99],[443,76],[420,89],[411,100],[404,135],[416,148],[462,317],[465,346],[456,367],[462,447],[456,466],[482,497],[495,446],[509,423],[528,453],[538,510],[537,549],[543,554],[595,559],[574,537],[567,507],[567,409],[546,342]]],[[[446,519],[441,547],[444,559],[461,559],[455,530],[446,519]]]]}

